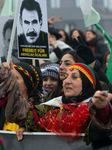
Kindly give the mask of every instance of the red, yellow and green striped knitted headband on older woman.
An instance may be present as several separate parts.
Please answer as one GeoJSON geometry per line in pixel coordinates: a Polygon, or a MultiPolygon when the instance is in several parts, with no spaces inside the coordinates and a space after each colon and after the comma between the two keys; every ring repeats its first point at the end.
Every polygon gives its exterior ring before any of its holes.
{"type": "Polygon", "coordinates": [[[82,72],[89,79],[89,81],[92,83],[94,89],[96,88],[95,74],[94,74],[93,70],[88,65],[83,64],[83,63],[75,63],[67,69],[67,72],[69,70],[72,71],[74,68],[79,70],[80,72],[82,72]]]}

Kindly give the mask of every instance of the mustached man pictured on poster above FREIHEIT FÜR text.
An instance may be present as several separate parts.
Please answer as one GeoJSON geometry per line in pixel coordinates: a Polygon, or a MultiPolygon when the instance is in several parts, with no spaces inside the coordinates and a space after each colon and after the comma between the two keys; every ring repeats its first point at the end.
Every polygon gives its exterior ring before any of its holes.
{"type": "Polygon", "coordinates": [[[42,11],[37,1],[22,1],[19,21],[23,30],[19,36],[20,45],[46,45],[48,37],[47,33],[41,31],[42,11]]]}

